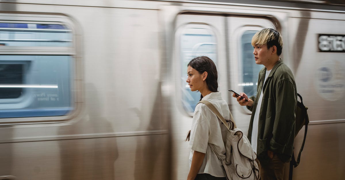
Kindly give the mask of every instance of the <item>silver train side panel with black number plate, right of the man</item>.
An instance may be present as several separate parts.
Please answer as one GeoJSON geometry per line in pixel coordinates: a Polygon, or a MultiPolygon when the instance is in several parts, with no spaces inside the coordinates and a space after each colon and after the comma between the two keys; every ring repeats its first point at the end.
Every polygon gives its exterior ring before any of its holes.
{"type": "MultiPolygon", "coordinates": [[[[312,13],[310,19],[289,21],[297,92],[309,108],[310,120],[301,163],[295,168],[293,179],[345,176],[344,19],[344,13],[320,12],[312,13]]],[[[295,154],[303,135],[304,128],[295,138],[295,154]]]]}

